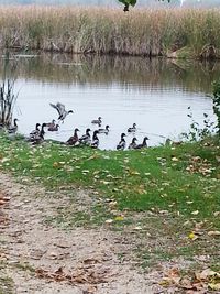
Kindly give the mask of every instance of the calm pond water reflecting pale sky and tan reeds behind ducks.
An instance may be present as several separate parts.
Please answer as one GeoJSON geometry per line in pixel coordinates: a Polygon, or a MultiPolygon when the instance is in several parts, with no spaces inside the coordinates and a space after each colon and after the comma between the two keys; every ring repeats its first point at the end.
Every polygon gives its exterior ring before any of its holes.
{"type": "MultiPolygon", "coordinates": [[[[6,62],[1,59],[1,79],[6,62]]],[[[194,118],[202,122],[206,112],[213,120],[211,81],[219,78],[219,63],[177,62],[140,57],[19,55],[10,53],[7,75],[14,76],[19,91],[14,117],[19,131],[29,134],[36,122],[57,119],[50,102],[61,101],[73,109],[58,132],[46,133],[66,141],[75,128],[96,129],[90,121],[102,117],[102,127],[110,126],[108,135],[100,134],[101,149],[116,149],[120,134],[135,122],[135,137],[148,145],[178,140],[189,129],[187,117],[191,107],[194,118]]],[[[128,134],[130,143],[132,134],[128,134]]]]}

